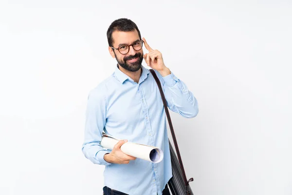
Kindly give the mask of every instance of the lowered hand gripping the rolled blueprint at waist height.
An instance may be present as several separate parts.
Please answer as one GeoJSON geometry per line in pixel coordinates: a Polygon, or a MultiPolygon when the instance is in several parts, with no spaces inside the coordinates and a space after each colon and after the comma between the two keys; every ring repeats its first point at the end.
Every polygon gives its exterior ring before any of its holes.
{"type": "Polygon", "coordinates": [[[112,151],[104,156],[104,159],[109,163],[114,164],[128,164],[130,160],[135,160],[136,157],[126,155],[121,151],[121,146],[128,140],[120,140],[114,145],[112,151]]]}

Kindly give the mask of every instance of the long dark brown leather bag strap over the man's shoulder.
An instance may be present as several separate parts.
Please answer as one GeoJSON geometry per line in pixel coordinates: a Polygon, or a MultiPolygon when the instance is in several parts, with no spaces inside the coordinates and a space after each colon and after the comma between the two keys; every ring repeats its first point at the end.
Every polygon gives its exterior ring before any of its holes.
{"type": "MultiPolygon", "coordinates": [[[[174,146],[175,146],[175,150],[176,150],[176,153],[177,153],[177,156],[178,156],[180,167],[181,167],[181,170],[182,170],[182,173],[183,173],[184,185],[186,186],[186,189],[188,189],[189,182],[193,181],[194,179],[193,178],[190,178],[189,180],[186,179],[186,175],[185,175],[184,168],[183,168],[183,161],[182,161],[181,153],[180,153],[180,150],[179,150],[179,145],[177,143],[177,139],[176,139],[175,134],[174,134],[171,118],[170,118],[170,115],[169,115],[169,112],[168,112],[167,103],[166,103],[166,99],[164,97],[164,93],[163,93],[163,90],[162,90],[162,87],[161,87],[161,83],[160,83],[159,78],[157,77],[155,71],[153,69],[150,69],[149,71],[153,75],[153,77],[154,77],[154,79],[155,79],[155,81],[156,81],[156,83],[158,85],[159,91],[160,91],[160,95],[161,95],[161,98],[162,98],[162,101],[163,101],[164,110],[165,110],[166,117],[167,117],[167,120],[168,120],[171,136],[172,136],[173,143],[174,143],[174,146]]],[[[188,193],[188,190],[186,190],[186,193],[188,193]]]]}

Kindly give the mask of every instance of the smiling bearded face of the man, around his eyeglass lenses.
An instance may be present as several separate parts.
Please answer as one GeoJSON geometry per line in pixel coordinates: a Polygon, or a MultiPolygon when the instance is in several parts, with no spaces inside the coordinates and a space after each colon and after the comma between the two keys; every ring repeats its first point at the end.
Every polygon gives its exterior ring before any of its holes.
{"type": "MultiPolygon", "coordinates": [[[[140,40],[137,30],[122,32],[115,31],[112,33],[113,47],[119,48],[122,45],[130,45],[140,40]]],[[[134,50],[132,46],[129,47],[127,54],[121,54],[118,50],[109,47],[110,55],[118,61],[119,65],[128,71],[136,72],[142,66],[143,49],[139,51],[134,50]]]]}

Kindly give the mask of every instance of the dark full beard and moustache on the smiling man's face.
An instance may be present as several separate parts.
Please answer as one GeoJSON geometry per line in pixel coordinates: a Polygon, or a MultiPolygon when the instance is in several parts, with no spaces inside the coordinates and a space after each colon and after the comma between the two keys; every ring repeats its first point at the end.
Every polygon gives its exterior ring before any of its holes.
{"type": "Polygon", "coordinates": [[[134,56],[124,57],[123,60],[117,59],[116,55],[115,55],[115,58],[118,61],[118,63],[120,64],[120,66],[122,66],[124,69],[126,69],[128,71],[131,71],[131,72],[138,71],[142,66],[143,55],[141,53],[136,53],[134,56]],[[134,62],[128,62],[127,63],[127,60],[135,59],[135,58],[138,58],[138,60],[134,61],[134,62]]]}

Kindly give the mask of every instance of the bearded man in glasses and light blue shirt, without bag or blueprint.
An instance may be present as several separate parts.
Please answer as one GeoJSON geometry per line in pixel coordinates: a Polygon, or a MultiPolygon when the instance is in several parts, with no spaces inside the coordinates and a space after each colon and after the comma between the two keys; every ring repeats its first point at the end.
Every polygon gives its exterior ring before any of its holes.
{"type": "Polygon", "coordinates": [[[109,52],[118,62],[114,73],[88,96],[84,155],[94,164],[105,165],[105,195],[169,195],[172,177],[164,106],[158,86],[143,58],[160,79],[168,108],[190,118],[198,114],[198,102],[182,80],[164,65],[162,54],[141,39],[137,25],[118,19],[107,32],[109,52]],[[148,50],[143,53],[143,44],[148,50]],[[102,132],[120,140],[108,150],[100,145],[102,132]],[[159,147],[159,163],[124,154],[127,141],[159,147]]]}

